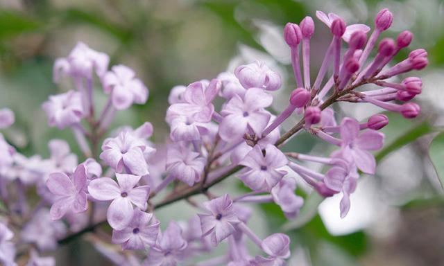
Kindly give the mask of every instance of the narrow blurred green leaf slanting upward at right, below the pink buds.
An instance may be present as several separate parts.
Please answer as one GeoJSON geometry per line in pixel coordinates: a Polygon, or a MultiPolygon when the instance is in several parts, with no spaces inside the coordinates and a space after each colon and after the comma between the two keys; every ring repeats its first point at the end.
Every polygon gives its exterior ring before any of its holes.
{"type": "Polygon", "coordinates": [[[398,150],[399,148],[402,148],[404,145],[407,145],[413,141],[416,141],[416,139],[418,139],[420,136],[434,132],[434,130],[435,128],[430,125],[428,121],[422,121],[382,148],[382,150],[380,150],[375,156],[376,161],[381,161],[391,152],[398,150]]]}

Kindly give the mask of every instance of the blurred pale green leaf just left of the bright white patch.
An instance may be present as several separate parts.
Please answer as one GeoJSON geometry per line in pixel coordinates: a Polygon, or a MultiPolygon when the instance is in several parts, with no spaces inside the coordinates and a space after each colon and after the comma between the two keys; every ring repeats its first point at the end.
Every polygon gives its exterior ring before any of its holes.
{"type": "Polygon", "coordinates": [[[291,220],[284,224],[282,227],[285,231],[292,229],[298,229],[303,227],[307,222],[313,219],[318,213],[318,206],[323,201],[323,197],[319,195],[316,191],[312,192],[305,199],[305,203],[300,209],[300,213],[295,220],[291,220]]]}

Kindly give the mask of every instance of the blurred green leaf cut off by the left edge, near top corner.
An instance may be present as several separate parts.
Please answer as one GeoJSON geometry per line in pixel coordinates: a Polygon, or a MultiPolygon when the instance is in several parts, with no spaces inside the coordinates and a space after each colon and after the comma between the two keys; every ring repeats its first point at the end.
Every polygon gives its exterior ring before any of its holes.
{"type": "Polygon", "coordinates": [[[42,23],[16,11],[0,11],[0,39],[19,35],[25,32],[35,31],[42,27],[42,23]]]}

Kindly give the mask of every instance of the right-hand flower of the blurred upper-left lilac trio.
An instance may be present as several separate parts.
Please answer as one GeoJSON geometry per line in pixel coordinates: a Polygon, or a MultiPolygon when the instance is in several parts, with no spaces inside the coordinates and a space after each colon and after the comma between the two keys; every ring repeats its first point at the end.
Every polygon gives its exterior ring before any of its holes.
{"type": "Polygon", "coordinates": [[[112,105],[116,109],[127,109],[133,103],[142,105],[148,99],[148,89],[144,83],[135,78],[133,69],[121,64],[112,67],[103,76],[103,90],[111,94],[112,105]]]}

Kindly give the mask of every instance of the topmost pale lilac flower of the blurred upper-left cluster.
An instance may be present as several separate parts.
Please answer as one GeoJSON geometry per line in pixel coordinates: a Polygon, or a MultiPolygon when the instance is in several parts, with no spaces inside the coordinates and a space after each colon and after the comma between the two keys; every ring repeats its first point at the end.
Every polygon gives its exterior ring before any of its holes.
{"type": "Polygon", "coordinates": [[[59,58],[54,63],[54,81],[58,82],[60,74],[73,77],[92,78],[92,71],[101,77],[108,69],[110,58],[105,53],[92,50],[83,42],[78,42],[66,58],[59,58]]]}

